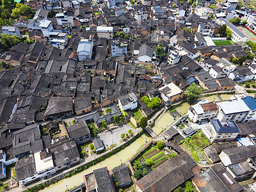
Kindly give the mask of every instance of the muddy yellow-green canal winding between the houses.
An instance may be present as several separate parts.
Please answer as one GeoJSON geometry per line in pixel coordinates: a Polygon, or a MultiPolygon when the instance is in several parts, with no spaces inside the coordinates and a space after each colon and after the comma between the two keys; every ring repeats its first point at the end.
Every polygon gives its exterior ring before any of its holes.
{"type": "MultiPolygon", "coordinates": [[[[254,93],[253,93],[254,94],[254,93]]],[[[202,97],[200,100],[207,99],[210,102],[212,101],[220,101],[220,100],[228,100],[230,99],[232,95],[212,95],[209,97],[202,97]]],[[[191,105],[188,102],[185,102],[182,104],[182,106],[176,108],[176,110],[181,114],[184,115],[188,112],[188,109],[191,105]]],[[[161,117],[161,119],[157,122],[157,124],[153,127],[154,131],[159,134],[163,129],[166,128],[166,126],[174,120],[173,116],[170,115],[170,113],[167,111],[164,113],[164,115],[161,117]]],[[[97,163],[87,170],[84,170],[81,173],[77,173],[76,175],[73,175],[72,177],[68,177],[67,179],[60,180],[56,184],[52,184],[51,186],[41,190],[44,192],[50,192],[50,191],[65,191],[66,185],[68,188],[72,188],[74,186],[79,186],[83,180],[83,175],[86,175],[88,173],[91,173],[93,170],[97,168],[102,168],[104,166],[108,166],[108,170],[112,170],[116,166],[124,163],[128,159],[130,159],[136,152],[141,148],[141,146],[145,143],[145,141],[149,141],[152,138],[148,134],[142,134],[140,138],[138,138],[136,141],[131,143],[131,145],[125,147],[123,150],[120,150],[120,152],[116,153],[115,155],[109,157],[108,159],[105,159],[104,161],[101,161],[100,163],[97,163]]]]}

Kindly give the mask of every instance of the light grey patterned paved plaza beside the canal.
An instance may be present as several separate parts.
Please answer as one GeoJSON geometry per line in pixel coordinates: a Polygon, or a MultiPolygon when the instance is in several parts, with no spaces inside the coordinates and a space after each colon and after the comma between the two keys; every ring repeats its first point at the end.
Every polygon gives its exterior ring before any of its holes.
{"type": "Polygon", "coordinates": [[[100,132],[98,135],[100,139],[103,141],[106,148],[110,147],[111,145],[118,143],[122,140],[121,134],[127,133],[129,129],[134,132],[135,129],[130,124],[121,125],[122,127],[118,127],[117,129],[107,131],[107,132],[100,132]],[[108,145],[108,146],[107,146],[108,145]]]}

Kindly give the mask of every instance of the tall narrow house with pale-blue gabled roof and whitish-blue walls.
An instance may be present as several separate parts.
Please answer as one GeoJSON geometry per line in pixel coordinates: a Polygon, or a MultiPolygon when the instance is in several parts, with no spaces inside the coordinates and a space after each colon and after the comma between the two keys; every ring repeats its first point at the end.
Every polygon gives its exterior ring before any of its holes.
{"type": "Polygon", "coordinates": [[[92,59],[93,40],[82,39],[77,47],[78,60],[92,59]]]}

